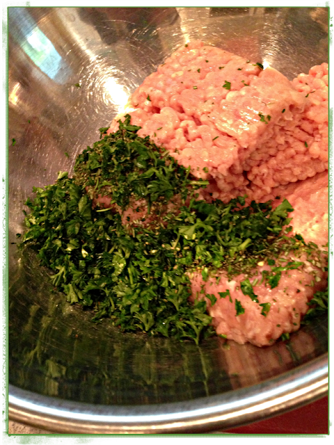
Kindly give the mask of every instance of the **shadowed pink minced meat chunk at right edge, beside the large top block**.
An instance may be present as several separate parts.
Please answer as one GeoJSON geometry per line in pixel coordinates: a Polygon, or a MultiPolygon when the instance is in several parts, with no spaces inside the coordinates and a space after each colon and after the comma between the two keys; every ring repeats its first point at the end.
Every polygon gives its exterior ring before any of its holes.
{"type": "MultiPolygon", "coordinates": [[[[253,152],[244,170],[253,199],[281,184],[303,180],[328,169],[328,64],[312,67],[292,81],[309,105],[291,128],[279,129],[253,152]]],[[[285,111],[286,112],[286,111],[285,111]]]]}

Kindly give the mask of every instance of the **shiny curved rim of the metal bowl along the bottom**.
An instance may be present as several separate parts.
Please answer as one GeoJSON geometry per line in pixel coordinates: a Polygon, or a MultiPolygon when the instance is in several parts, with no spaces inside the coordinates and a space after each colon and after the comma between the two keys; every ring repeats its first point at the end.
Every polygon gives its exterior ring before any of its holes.
{"type": "Polygon", "coordinates": [[[223,394],[153,405],[93,405],[8,385],[8,416],[52,432],[161,434],[226,430],[268,419],[328,394],[328,353],[275,378],[223,394]]]}

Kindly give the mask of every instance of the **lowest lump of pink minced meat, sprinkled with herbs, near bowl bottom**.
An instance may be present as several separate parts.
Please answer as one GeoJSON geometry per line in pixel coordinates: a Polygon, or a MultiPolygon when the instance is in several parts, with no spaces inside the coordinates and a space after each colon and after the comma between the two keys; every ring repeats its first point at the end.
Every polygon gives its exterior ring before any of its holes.
{"type": "MultiPolygon", "coordinates": [[[[270,267],[267,265],[258,267],[259,283],[262,270],[270,270],[270,267]]],[[[196,273],[191,279],[192,300],[205,298],[208,313],[212,316],[212,325],[217,334],[222,334],[226,336],[226,339],[237,343],[249,342],[256,346],[269,346],[283,333],[299,330],[301,318],[310,308],[307,302],[311,300],[315,291],[322,290],[326,286],[326,273],[306,262],[305,270],[283,272],[278,286],[274,289],[270,289],[270,286],[263,283],[253,286],[253,291],[258,298],[258,302],[255,302],[240,290],[240,282],[244,278],[244,275],[238,275],[228,281],[222,274],[217,284],[217,277],[203,282],[201,273],[196,273]],[[317,279],[319,281],[313,285],[312,280],[315,280],[315,276],[312,273],[317,273],[319,277],[317,279]],[[204,293],[201,293],[203,285],[204,293]],[[231,294],[231,300],[229,296],[225,298],[219,296],[219,293],[224,295],[227,290],[231,294]],[[209,298],[206,298],[206,294],[217,298],[214,305],[209,298]],[[243,314],[236,315],[236,299],[244,308],[243,314]],[[270,304],[267,315],[261,314],[263,307],[260,304],[263,303],[270,304]]],[[[254,278],[252,277],[251,280],[254,278]]]]}

